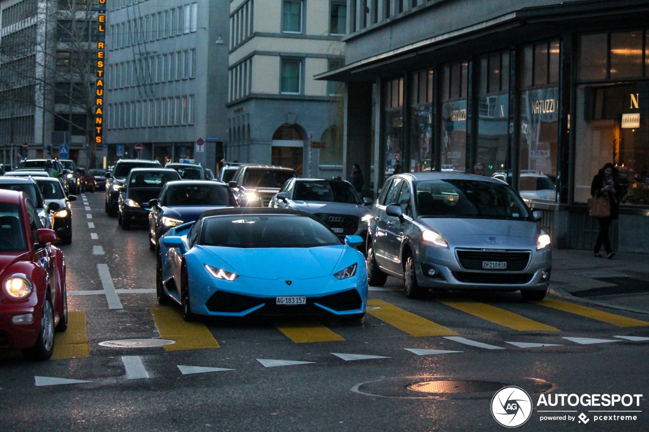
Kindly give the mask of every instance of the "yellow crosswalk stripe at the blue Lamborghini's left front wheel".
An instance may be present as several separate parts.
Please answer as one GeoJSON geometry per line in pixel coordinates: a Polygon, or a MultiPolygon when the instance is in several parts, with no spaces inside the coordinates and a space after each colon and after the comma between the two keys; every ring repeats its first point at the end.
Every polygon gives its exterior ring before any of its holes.
{"type": "Polygon", "coordinates": [[[177,307],[149,307],[162,339],[175,344],[165,345],[166,351],[221,348],[210,330],[201,322],[186,322],[177,307]]]}

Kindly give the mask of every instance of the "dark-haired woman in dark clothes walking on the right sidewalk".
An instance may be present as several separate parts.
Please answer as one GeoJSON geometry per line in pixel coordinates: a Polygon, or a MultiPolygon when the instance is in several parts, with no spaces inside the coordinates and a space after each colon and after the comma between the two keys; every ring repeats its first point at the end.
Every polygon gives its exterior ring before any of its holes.
{"type": "Polygon", "coordinates": [[[591,195],[596,197],[605,197],[608,198],[610,204],[610,215],[608,217],[598,217],[597,222],[600,224],[600,233],[597,236],[597,241],[595,242],[594,256],[601,258],[600,248],[604,245],[604,250],[606,250],[606,256],[608,259],[611,259],[615,256],[615,252],[611,249],[611,239],[609,237],[609,227],[611,226],[611,221],[617,219],[618,217],[618,195],[619,195],[620,185],[618,184],[617,179],[617,168],[613,166],[613,163],[607,162],[602,169],[593,177],[593,183],[591,184],[591,195]]]}

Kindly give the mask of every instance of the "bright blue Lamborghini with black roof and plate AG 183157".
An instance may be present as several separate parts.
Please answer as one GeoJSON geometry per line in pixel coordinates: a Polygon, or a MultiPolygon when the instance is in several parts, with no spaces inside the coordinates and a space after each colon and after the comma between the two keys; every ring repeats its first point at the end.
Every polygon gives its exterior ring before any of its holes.
{"type": "Polygon", "coordinates": [[[367,305],[365,257],[300,210],[210,210],[160,239],[161,304],[195,315],[333,315],[360,319],[367,305]]]}

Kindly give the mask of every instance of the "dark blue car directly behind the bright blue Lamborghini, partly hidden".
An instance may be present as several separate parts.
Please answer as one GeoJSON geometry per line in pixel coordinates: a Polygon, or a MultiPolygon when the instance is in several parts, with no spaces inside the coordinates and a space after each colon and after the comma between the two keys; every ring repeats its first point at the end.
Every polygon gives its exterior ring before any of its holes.
{"type": "Polygon", "coordinates": [[[238,207],[225,183],[210,180],[178,180],[167,183],[158,199],[149,201],[149,249],[174,226],[193,222],[203,211],[238,207]]]}

